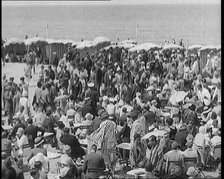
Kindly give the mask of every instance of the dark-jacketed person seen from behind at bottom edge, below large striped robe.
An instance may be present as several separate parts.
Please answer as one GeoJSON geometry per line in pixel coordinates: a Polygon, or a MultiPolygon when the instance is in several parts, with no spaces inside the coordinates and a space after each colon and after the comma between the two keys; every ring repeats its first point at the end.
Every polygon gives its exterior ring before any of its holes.
{"type": "Polygon", "coordinates": [[[86,178],[94,179],[102,176],[105,169],[104,159],[101,154],[97,153],[97,146],[93,144],[90,154],[85,157],[83,172],[86,173],[86,178]]]}

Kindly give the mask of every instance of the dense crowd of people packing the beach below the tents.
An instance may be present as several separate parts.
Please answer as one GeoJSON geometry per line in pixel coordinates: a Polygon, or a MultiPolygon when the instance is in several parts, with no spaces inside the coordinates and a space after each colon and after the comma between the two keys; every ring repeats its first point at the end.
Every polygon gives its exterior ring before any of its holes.
{"type": "Polygon", "coordinates": [[[203,69],[197,54],[182,50],[130,54],[115,47],[80,58],[69,49],[62,59],[54,53],[47,68],[34,64],[38,72],[27,60],[19,84],[6,75],[2,80],[5,116],[12,126],[10,131],[2,127],[2,178],[24,177],[26,143],[35,179],[47,178],[52,167],[46,143],[63,153],[63,179],[114,171],[117,151],[130,161],[130,170],[145,168],[146,178],[200,178],[200,169],[221,171],[221,52],[210,52],[203,69]],[[29,96],[35,74],[37,87],[29,96]],[[44,138],[46,132],[53,133],[50,139],[44,138]],[[129,143],[130,150],[116,150],[121,143],[129,143]],[[189,158],[195,165],[187,166],[189,158]]]}

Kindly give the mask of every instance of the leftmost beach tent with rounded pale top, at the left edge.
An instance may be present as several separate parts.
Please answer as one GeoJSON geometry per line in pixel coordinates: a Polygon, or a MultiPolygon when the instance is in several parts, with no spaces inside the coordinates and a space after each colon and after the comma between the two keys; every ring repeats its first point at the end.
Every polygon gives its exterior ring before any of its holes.
{"type": "Polygon", "coordinates": [[[25,55],[26,46],[22,39],[11,38],[4,43],[4,53],[11,53],[13,56],[25,55]]]}

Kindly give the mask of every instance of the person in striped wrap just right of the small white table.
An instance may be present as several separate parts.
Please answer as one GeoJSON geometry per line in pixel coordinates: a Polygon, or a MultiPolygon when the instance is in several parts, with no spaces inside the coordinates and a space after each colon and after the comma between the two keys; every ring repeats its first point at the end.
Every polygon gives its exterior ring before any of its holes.
{"type": "Polygon", "coordinates": [[[134,135],[134,143],[130,150],[130,162],[133,167],[143,167],[146,162],[146,148],[138,133],[134,135]]]}

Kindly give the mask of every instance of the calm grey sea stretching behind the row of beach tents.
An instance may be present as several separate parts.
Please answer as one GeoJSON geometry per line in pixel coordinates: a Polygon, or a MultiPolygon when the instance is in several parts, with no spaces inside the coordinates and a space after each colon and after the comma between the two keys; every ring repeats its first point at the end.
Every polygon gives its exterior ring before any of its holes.
{"type": "Polygon", "coordinates": [[[163,43],[183,39],[202,45],[221,43],[220,5],[4,6],[2,37],[163,43]],[[48,24],[48,30],[46,28],[48,24]],[[136,26],[138,26],[136,28],[136,26]],[[136,30],[137,29],[137,30],[136,30]]]}

